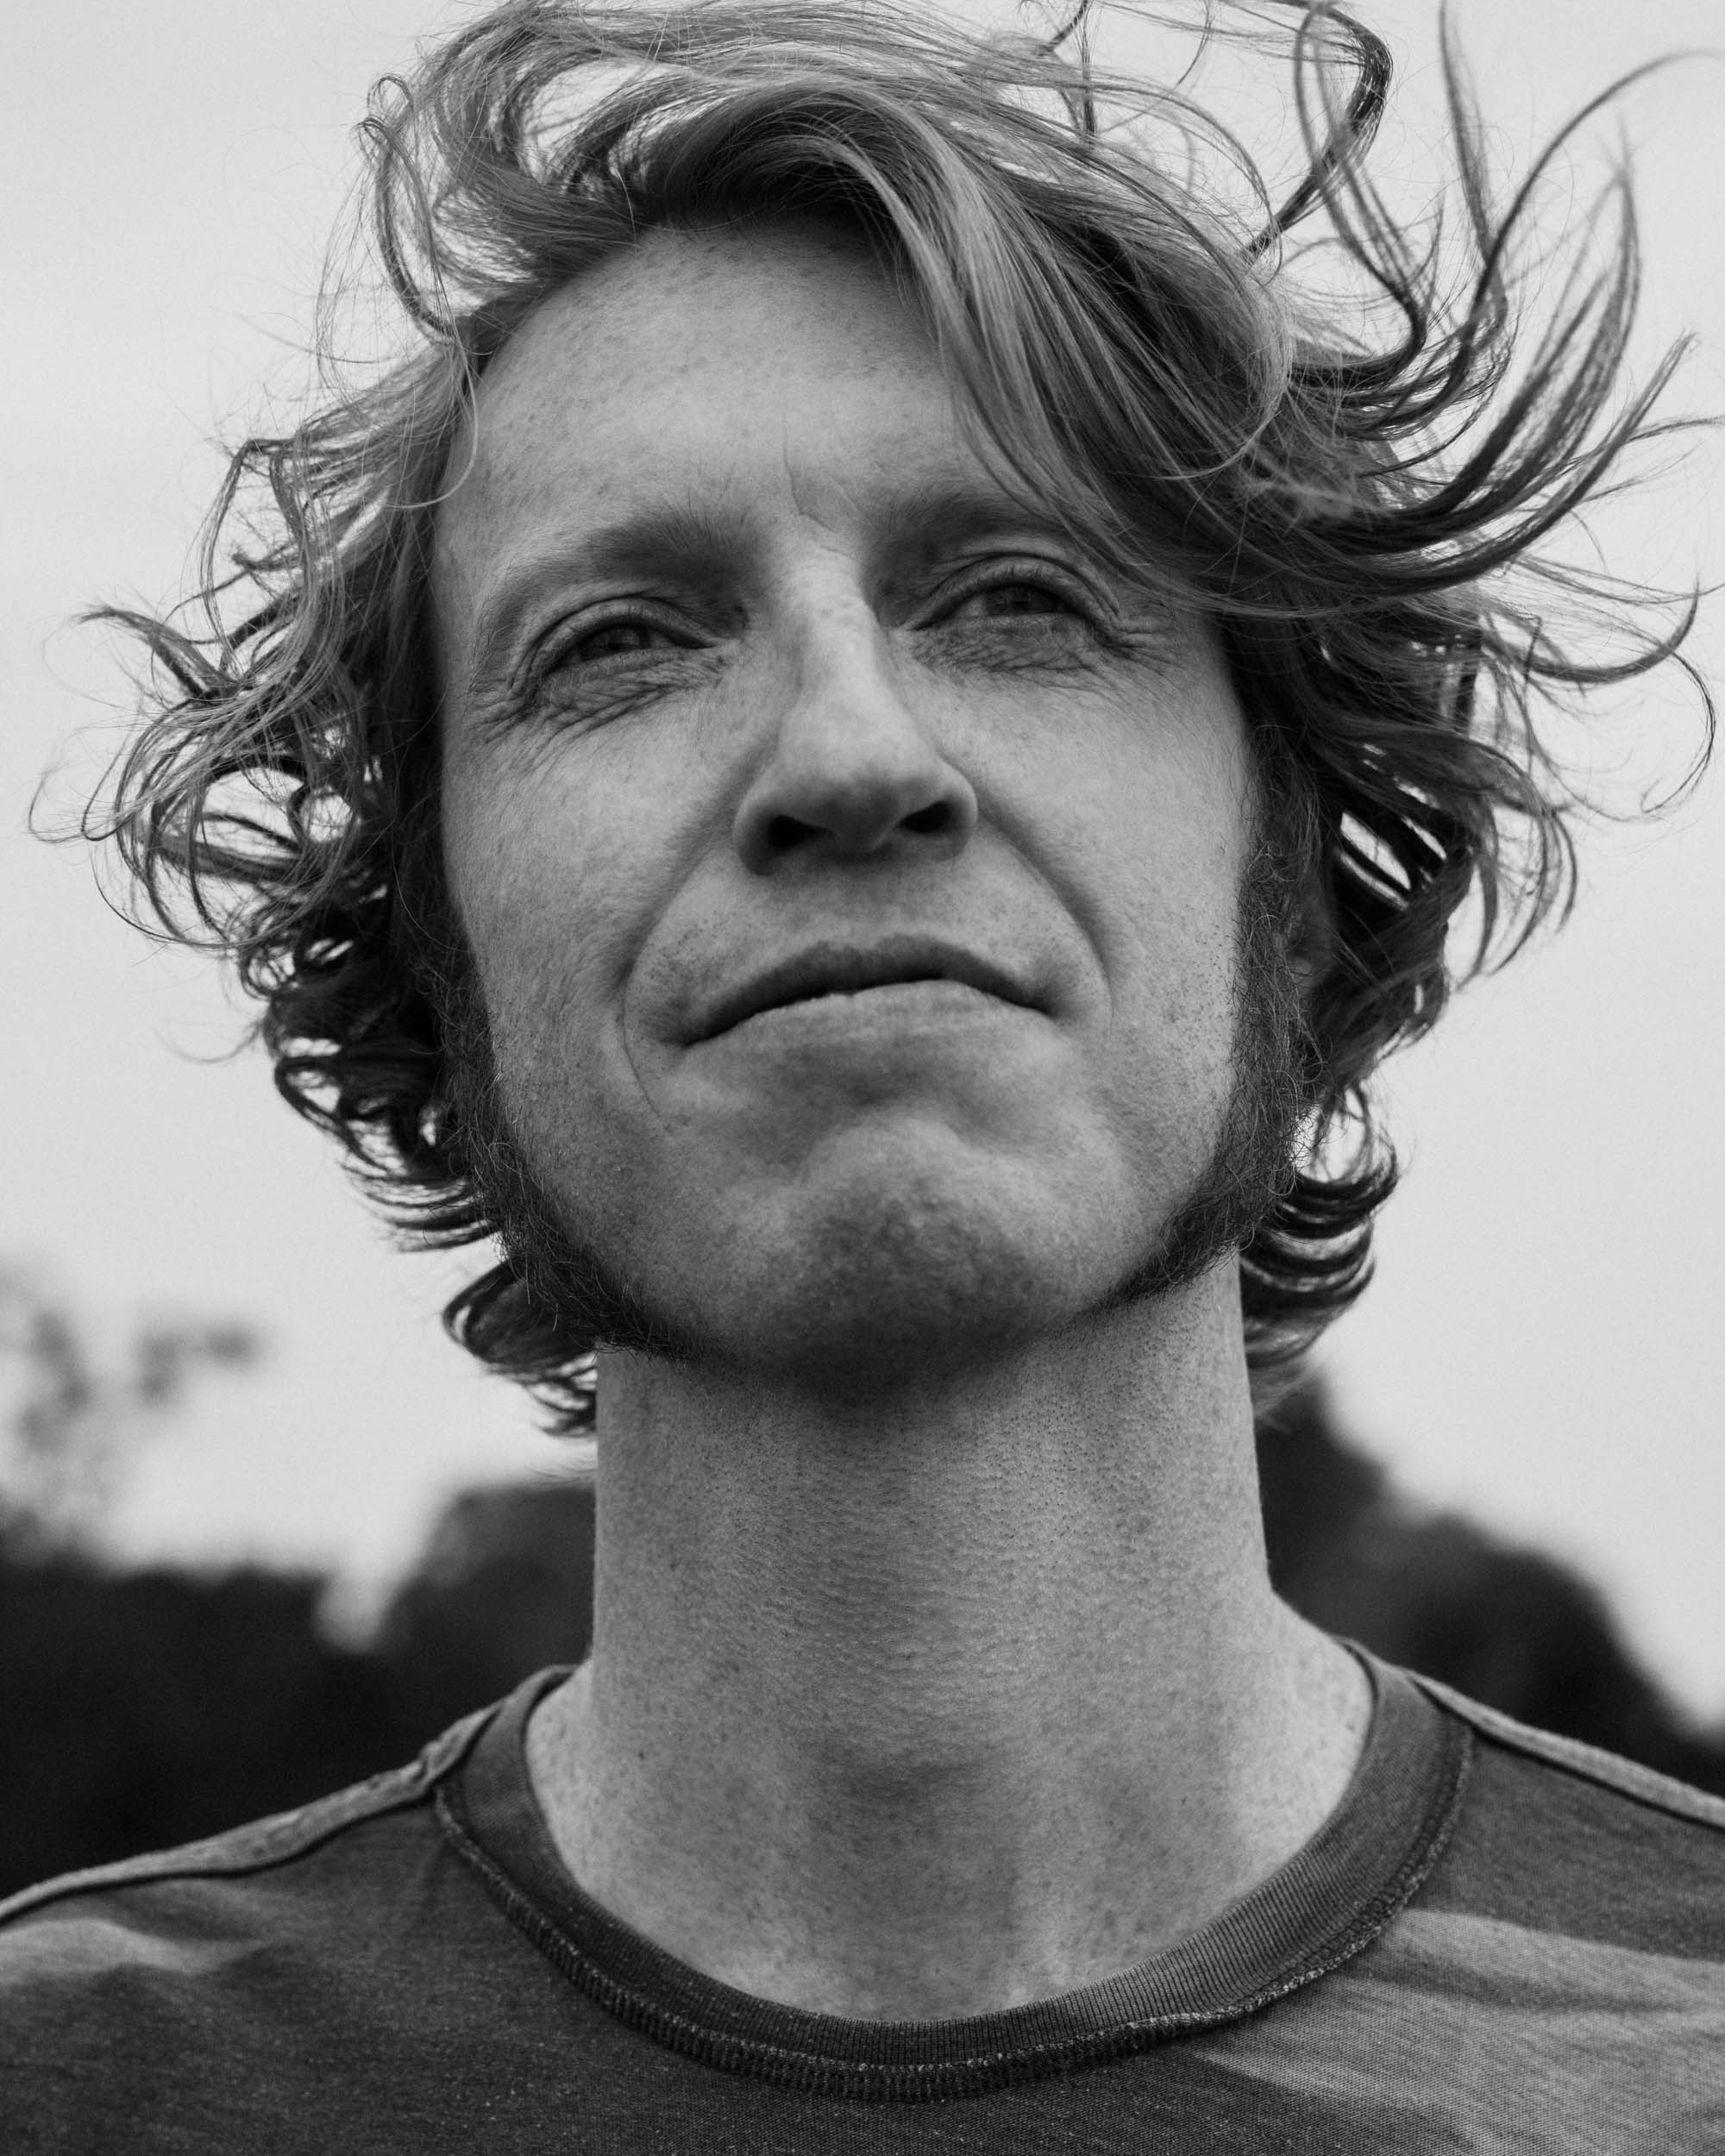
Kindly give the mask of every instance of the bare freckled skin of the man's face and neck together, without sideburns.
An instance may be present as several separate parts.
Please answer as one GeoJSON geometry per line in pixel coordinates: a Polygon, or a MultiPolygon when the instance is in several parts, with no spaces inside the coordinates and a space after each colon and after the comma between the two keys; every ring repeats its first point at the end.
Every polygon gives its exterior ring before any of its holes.
{"type": "Polygon", "coordinates": [[[446,858],[502,1102],[679,1339],[599,1356],[552,1839],[802,2007],[1113,1975],[1317,1828],[1365,1720],[1270,1591],[1233,1263],[1110,1296],[1236,1076],[1214,645],[1000,494],[806,229],[550,300],[455,474],[446,858]],[[755,994],[811,953],[826,992],[755,994]]]}

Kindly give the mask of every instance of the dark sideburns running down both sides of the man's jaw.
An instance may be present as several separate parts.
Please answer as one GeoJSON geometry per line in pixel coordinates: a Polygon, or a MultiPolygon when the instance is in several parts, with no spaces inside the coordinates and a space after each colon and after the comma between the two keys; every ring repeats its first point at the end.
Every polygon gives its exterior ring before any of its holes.
{"type": "MultiPolygon", "coordinates": [[[[1154,1302],[1197,1281],[1238,1253],[1294,1186],[1309,1102],[1287,890],[1285,871],[1259,843],[1240,890],[1231,1087],[1216,1141],[1156,1248],[1098,1311],[1154,1302]]],[[[457,1153],[539,1339],[554,1337],[571,1367],[597,1348],[733,1365],[724,1341],[660,1307],[584,1240],[537,1173],[509,1119],[479,972],[459,931],[446,940],[436,1000],[457,1153]]]]}

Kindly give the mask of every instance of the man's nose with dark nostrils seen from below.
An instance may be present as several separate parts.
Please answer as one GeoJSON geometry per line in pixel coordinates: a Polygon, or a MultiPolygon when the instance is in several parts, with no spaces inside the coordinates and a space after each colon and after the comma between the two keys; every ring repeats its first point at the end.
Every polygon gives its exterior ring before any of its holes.
{"type": "Polygon", "coordinates": [[[791,862],[962,854],[977,793],[906,705],[880,627],[817,642],[737,804],[744,865],[774,875],[791,862]]]}

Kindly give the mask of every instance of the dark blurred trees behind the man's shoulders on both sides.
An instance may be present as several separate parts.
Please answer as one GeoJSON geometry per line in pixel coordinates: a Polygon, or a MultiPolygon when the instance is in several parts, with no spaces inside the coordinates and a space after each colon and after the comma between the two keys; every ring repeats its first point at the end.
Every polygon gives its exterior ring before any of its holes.
{"type": "MultiPolygon", "coordinates": [[[[593,1492],[468,1492],[367,1645],[319,1626],[326,1580],[116,1572],[93,1522],[114,1460],[244,1328],[140,1328],[110,1363],[52,1298],[0,1285],[0,1893],[216,1833],[395,1766],[468,1708],[586,1651],[593,1492]]],[[[1315,1386],[1259,1429],[1279,1589],[1317,1623],[1522,1720],[1725,1789],[1574,1572],[1406,1507],[1315,1386]]]]}

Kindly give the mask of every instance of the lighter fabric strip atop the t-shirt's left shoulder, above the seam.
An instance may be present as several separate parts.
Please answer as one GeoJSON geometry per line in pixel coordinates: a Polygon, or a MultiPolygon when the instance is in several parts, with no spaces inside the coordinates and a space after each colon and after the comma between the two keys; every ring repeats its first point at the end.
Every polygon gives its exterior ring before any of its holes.
{"type": "Polygon", "coordinates": [[[418,1805],[461,1759],[472,1751],[481,1729],[498,1712],[498,1705],[481,1708],[464,1716],[442,1736],[433,1738],[416,1759],[405,1766],[386,1768],[369,1781],[358,1781],[347,1789],[313,1798],[293,1811],[276,1811],[246,1826],[233,1826],[203,1841],[185,1841],[172,1850],[153,1850],[147,1856],[125,1856],[112,1865],[93,1865],[86,1871],[67,1871],[60,1878],[41,1880],[0,1902],[0,1925],[15,1917],[82,1893],[104,1893],[112,1887],[142,1887],[172,1878],[239,1878],[248,1871],[270,1871],[276,1865],[304,1856],[319,1843],[364,1820],[384,1818],[390,1811],[405,1811],[418,1805]]]}

